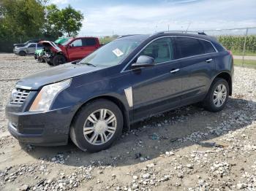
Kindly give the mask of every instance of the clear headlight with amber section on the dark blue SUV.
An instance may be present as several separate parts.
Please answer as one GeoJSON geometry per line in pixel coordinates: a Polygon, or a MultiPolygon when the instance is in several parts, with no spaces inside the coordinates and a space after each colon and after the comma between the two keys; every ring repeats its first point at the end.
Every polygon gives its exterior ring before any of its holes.
{"type": "Polygon", "coordinates": [[[37,95],[37,98],[34,99],[33,104],[31,105],[29,112],[43,112],[50,109],[51,104],[53,103],[56,95],[69,87],[71,79],[67,79],[61,82],[57,82],[51,85],[45,85],[42,87],[42,90],[37,95]]]}

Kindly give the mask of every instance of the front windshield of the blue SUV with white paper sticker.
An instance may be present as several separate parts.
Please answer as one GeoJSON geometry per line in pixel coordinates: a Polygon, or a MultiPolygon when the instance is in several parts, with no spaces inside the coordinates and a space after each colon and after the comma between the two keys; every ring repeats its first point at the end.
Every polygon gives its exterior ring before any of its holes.
{"type": "Polygon", "coordinates": [[[94,66],[115,66],[141,43],[141,39],[118,39],[99,48],[80,63],[94,66]]]}

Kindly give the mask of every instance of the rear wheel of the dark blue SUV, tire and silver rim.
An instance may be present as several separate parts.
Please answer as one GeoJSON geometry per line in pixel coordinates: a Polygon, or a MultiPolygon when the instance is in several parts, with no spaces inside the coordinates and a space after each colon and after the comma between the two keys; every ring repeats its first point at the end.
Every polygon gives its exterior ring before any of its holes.
{"type": "Polygon", "coordinates": [[[221,111],[227,104],[229,90],[230,88],[225,79],[214,79],[214,82],[212,82],[208,94],[206,95],[206,98],[203,101],[203,106],[205,107],[205,109],[209,112],[221,111]]]}

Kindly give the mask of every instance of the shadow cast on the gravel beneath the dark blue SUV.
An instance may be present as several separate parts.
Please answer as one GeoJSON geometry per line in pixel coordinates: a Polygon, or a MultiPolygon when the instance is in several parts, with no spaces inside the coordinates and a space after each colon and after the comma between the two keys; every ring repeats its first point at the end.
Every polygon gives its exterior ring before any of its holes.
{"type": "Polygon", "coordinates": [[[28,154],[49,161],[61,154],[67,159],[64,165],[70,166],[132,165],[142,163],[140,157],[152,160],[166,151],[193,144],[214,147],[214,144],[202,144],[202,141],[250,125],[256,120],[252,115],[255,109],[255,102],[244,100],[242,97],[230,98],[225,109],[217,113],[207,112],[197,105],[192,105],[135,123],[130,132],[123,133],[116,144],[102,152],[82,152],[70,141],[67,146],[35,147],[28,154]],[[244,116],[246,117],[243,118],[244,116]]]}

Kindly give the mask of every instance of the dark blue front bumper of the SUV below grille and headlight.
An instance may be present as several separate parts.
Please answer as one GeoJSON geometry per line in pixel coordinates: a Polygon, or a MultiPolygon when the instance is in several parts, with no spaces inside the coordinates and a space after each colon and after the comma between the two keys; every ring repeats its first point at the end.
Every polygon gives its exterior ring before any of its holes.
{"type": "Polygon", "coordinates": [[[67,107],[49,112],[11,111],[12,106],[7,106],[8,130],[18,141],[42,146],[67,144],[75,109],[67,107]]]}

